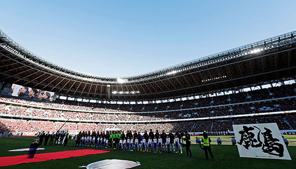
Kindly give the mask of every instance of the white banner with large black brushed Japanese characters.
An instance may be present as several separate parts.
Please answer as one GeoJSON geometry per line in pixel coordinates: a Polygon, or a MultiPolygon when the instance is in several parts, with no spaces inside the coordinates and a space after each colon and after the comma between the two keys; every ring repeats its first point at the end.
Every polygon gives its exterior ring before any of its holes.
{"type": "Polygon", "coordinates": [[[276,123],[233,125],[240,157],[291,160],[276,123]]]}

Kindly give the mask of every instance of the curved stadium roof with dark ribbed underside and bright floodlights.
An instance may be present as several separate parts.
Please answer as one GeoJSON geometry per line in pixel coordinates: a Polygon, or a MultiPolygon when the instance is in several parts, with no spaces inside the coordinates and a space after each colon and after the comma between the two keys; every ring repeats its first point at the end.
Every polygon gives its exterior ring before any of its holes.
{"type": "Polygon", "coordinates": [[[294,32],[126,77],[83,73],[37,56],[0,30],[0,79],[60,96],[112,101],[188,97],[296,75],[294,32]]]}

